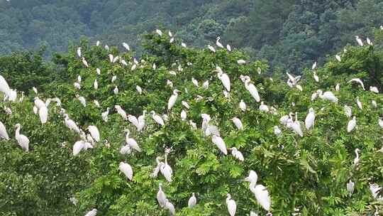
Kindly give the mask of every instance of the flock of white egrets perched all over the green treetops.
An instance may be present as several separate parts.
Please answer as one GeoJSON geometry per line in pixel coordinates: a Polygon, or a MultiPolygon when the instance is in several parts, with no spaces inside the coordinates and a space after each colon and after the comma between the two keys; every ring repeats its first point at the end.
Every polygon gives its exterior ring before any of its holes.
{"type": "MultiPolygon", "coordinates": [[[[159,36],[162,36],[162,31],[156,30],[156,33],[159,36]]],[[[173,43],[174,37],[172,36],[172,33],[169,32],[168,35],[170,36],[170,43],[173,43]]],[[[216,45],[218,46],[218,48],[224,48],[224,46],[221,44],[220,40],[221,40],[221,38],[218,37],[216,40],[216,45]]],[[[356,40],[357,40],[357,43],[359,45],[364,45],[363,41],[359,37],[357,37],[356,40]]],[[[367,38],[367,44],[372,45],[372,42],[368,38],[367,38]]],[[[99,46],[100,42],[97,41],[96,45],[99,46]]],[[[185,43],[182,43],[181,45],[182,45],[182,47],[186,48],[185,43]]],[[[131,50],[129,45],[126,43],[123,43],[123,47],[126,48],[126,50],[131,50]]],[[[108,45],[105,45],[105,48],[106,48],[106,50],[109,50],[108,45]]],[[[212,45],[209,45],[208,48],[209,48],[209,50],[211,50],[211,52],[216,53],[216,48],[214,48],[212,45]]],[[[226,49],[228,50],[228,52],[230,52],[231,46],[226,45],[226,49]]],[[[77,55],[79,58],[81,58],[82,63],[84,64],[84,67],[89,68],[89,64],[87,63],[86,58],[82,55],[82,48],[77,49],[77,55]]],[[[336,60],[341,61],[340,55],[336,55],[335,58],[336,58],[336,60]]],[[[132,60],[131,62],[127,63],[126,60],[123,60],[123,58],[120,58],[119,56],[114,57],[112,54],[109,54],[109,61],[112,64],[113,63],[121,63],[124,66],[131,65],[131,70],[135,70],[138,67],[142,67],[143,66],[142,64],[145,64],[145,60],[141,60],[141,62],[139,63],[138,60],[135,60],[135,59],[132,60]]],[[[246,64],[246,61],[240,59],[237,61],[237,63],[239,65],[244,65],[244,64],[246,64]]],[[[188,63],[188,65],[191,65],[191,63],[188,63]]],[[[316,82],[319,82],[319,77],[316,74],[316,66],[317,66],[317,64],[314,63],[313,67],[312,67],[313,79],[316,82]]],[[[153,68],[153,70],[155,70],[155,68],[157,66],[155,64],[153,64],[151,67],[153,68]]],[[[179,65],[178,71],[180,72],[182,70],[183,70],[182,65],[179,65]]],[[[230,97],[229,94],[231,92],[231,79],[228,76],[228,74],[223,72],[223,70],[219,66],[216,66],[216,68],[213,70],[213,72],[217,72],[216,75],[218,77],[218,80],[220,80],[221,84],[223,85],[223,95],[225,97],[230,97]]],[[[257,72],[258,72],[258,74],[261,73],[260,68],[258,68],[257,72]]],[[[97,73],[97,75],[100,75],[101,70],[99,68],[96,68],[96,73],[97,73]]],[[[177,72],[171,70],[170,75],[177,75],[177,72]]],[[[291,75],[289,73],[287,73],[287,76],[288,76],[287,85],[289,87],[292,87],[292,88],[296,87],[298,90],[302,91],[302,87],[301,87],[301,85],[299,85],[299,80],[301,80],[301,76],[294,77],[294,75],[291,75]]],[[[117,77],[113,76],[111,78],[111,83],[115,82],[116,79],[117,79],[117,77]]],[[[250,93],[252,98],[255,99],[255,102],[260,102],[260,106],[259,106],[260,112],[277,114],[277,109],[275,109],[274,107],[268,107],[267,104],[265,104],[264,102],[261,101],[261,97],[257,91],[257,87],[255,87],[255,85],[251,82],[250,77],[248,75],[240,75],[240,80],[243,82],[245,89],[248,90],[248,92],[250,93]]],[[[198,80],[195,80],[194,78],[192,78],[191,82],[196,87],[202,87],[203,89],[209,88],[209,80],[206,80],[201,86],[199,85],[198,80]]],[[[364,83],[359,78],[352,79],[349,82],[356,82],[362,87],[363,90],[365,90],[364,83]]],[[[95,79],[93,81],[93,83],[94,83],[93,84],[94,90],[98,90],[99,83],[97,82],[97,80],[95,79]]],[[[173,87],[171,80],[167,80],[166,85],[173,87]]],[[[81,76],[78,76],[76,82],[74,82],[74,88],[78,91],[80,91],[82,89],[82,77],[81,76]]],[[[138,94],[141,95],[143,93],[143,89],[140,86],[137,85],[135,87],[135,89],[137,90],[138,94]]],[[[335,91],[339,91],[339,90],[340,90],[340,85],[338,84],[335,86],[335,91]]],[[[4,99],[5,100],[9,100],[11,102],[16,102],[16,97],[17,97],[16,96],[17,95],[16,90],[11,90],[11,88],[7,84],[6,80],[1,75],[0,75],[0,91],[4,93],[4,99]]],[[[35,87],[33,87],[33,91],[35,91],[36,94],[38,93],[38,90],[35,87]]],[[[185,91],[187,91],[187,90],[185,89],[185,91]]],[[[374,92],[374,93],[379,93],[379,90],[377,89],[377,87],[370,87],[370,91],[374,92]]],[[[170,98],[169,98],[168,103],[167,103],[168,112],[170,112],[172,110],[172,107],[174,107],[174,105],[177,104],[177,98],[178,98],[179,92],[180,92],[179,90],[174,89],[172,95],[170,95],[170,98]]],[[[115,86],[115,88],[113,90],[113,94],[118,95],[118,86],[117,85],[115,86]]],[[[84,107],[87,107],[87,100],[85,99],[85,97],[82,97],[80,95],[76,95],[76,97],[84,107]]],[[[322,90],[317,90],[316,92],[313,92],[313,95],[311,96],[311,100],[313,101],[313,100],[317,99],[317,97],[324,99],[324,100],[328,100],[330,102],[338,103],[338,98],[335,97],[335,95],[331,91],[323,92],[322,90]]],[[[22,101],[22,98],[23,97],[21,97],[21,99],[19,101],[22,101]]],[[[200,100],[200,99],[203,99],[203,97],[201,97],[200,95],[196,95],[196,100],[200,100]]],[[[52,99],[46,99],[45,102],[42,99],[40,99],[39,97],[35,97],[35,99],[34,99],[33,112],[35,114],[38,114],[42,124],[45,124],[49,119],[48,118],[48,107],[50,105],[50,102],[52,102],[52,101],[57,103],[57,107],[61,107],[61,101],[57,97],[52,98],[52,99]]],[[[360,102],[359,98],[356,99],[356,103],[357,103],[357,107],[359,109],[362,109],[362,103],[360,102]]],[[[96,107],[100,107],[100,104],[98,101],[94,100],[94,104],[96,104],[96,107]]],[[[179,115],[179,117],[182,121],[187,121],[187,109],[190,109],[189,103],[186,101],[182,101],[181,104],[184,107],[184,109],[182,109],[182,112],[179,115]]],[[[377,107],[377,102],[372,101],[372,104],[374,107],[377,107]]],[[[240,100],[238,107],[242,112],[245,112],[247,110],[247,105],[245,104],[243,99],[240,100]]],[[[131,114],[126,114],[126,112],[123,110],[123,108],[118,104],[116,104],[114,108],[116,110],[116,113],[119,114],[124,120],[129,121],[131,124],[133,124],[133,126],[135,126],[137,131],[143,131],[145,129],[145,114],[146,114],[145,110],[143,111],[142,115],[140,115],[139,117],[135,117],[131,114]]],[[[7,113],[11,113],[11,109],[9,107],[7,107],[7,109],[8,109],[7,113]]],[[[357,125],[357,119],[355,116],[353,116],[352,108],[350,106],[345,104],[344,110],[345,110],[345,114],[350,118],[350,121],[348,121],[348,124],[345,126],[345,128],[348,132],[351,132],[355,129],[355,126],[357,125]]],[[[110,111],[110,109],[108,107],[105,112],[101,113],[101,117],[102,117],[103,121],[109,121],[109,118],[108,118],[109,111],[110,111]]],[[[89,148],[94,148],[94,144],[101,141],[100,132],[96,126],[94,126],[94,125],[87,126],[87,131],[89,131],[89,134],[87,134],[84,132],[83,129],[81,129],[81,127],[75,121],[70,119],[70,116],[69,116],[69,114],[67,114],[65,112],[65,109],[61,109],[60,113],[64,117],[64,122],[65,122],[65,125],[67,126],[67,128],[74,131],[75,133],[77,133],[79,135],[79,138],[80,138],[79,141],[75,142],[75,144],[73,146],[73,156],[77,156],[81,151],[86,151],[89,148]]],[[[152,119],[157,124],[159,124],[160,126],[165,126],[165,124],[169,118],[167,116],[167,114],[160,115],[160,114],[156,114],[155,111],[151,111],[150,113],[151,113],[152,119]]],[[[202,118],[201,129],[202,129],[202,131],[204,131],[204,135],[205,136],[211,136],[211,142],[216,145],[216,147],[219,149],[219,151],[221,151],[221,153],[223,153],[224,155],[227,155],[228,150],[231,150],[231,153],[232,153],[234,158],[236,158],[238,161],[245,161],[243,154],[237,148],[235,148],[235,147],[228,148],[226,146],[226,143],[223,140],[223,138],[221,137],[221,134],[219,132],[218,127],[211,124],[211,117],[209,114],[201,114],[201,118],[202,118]]],[[[233,117],[231,120],[233,121],[233,124],[235,125],[235,127],[238,130],[243,130],[244,126],[242,124],[242,121],[238,117],[233,117]]],[[[309,112],[306,116],[306,119],[304,120],[304,126],[306,127],[307,131],[309,131],[310,129],[313,128],[313,126],[315,125],[315,121],[316,121],[315,110],[313,108],[310,108],[309,112]]],[[[194,123],[191,119],[188,121],[188,123],[194,129],[196,129],[196,127],[197,127],[196,123],[194,123]]],[[[280,123],[285,128],[291,129],[292,131],[294,131],[294,133],[296,133],[297,135],[304,136],[304,130],[302,130],[302,128],[301,128],[301,123],[298,119],[297,113],[295,113],[295,114],[290,113],[288,115],[282,116],[280,118],[280,123]]],[[[379,126],[381,126],[383,128],[382,119],[378,119],[378,124],[379,124],[379,126]]],[[[17,143],[21,146],[23,151],[29,151],[29,139],[28,139],[28,137],[23,135],[23,134],[20,134],[21,124],[16,124],[15,127],[16,127],[15,139],[16,139],[17,143]]],[[[143,149],[140,148],[138,142],[135,141],[135,139],[133,139],[130,136],[131,131],[126,129],[125,132],[126,132],[126,145],[122,146],[120,153],[121,154],[130,154],[133,151],[137,151],[137,152],[143,151],[143,149]]],[[[274,126],[274,134],[276,136],[280,136],[282,134],[282,129],[279,128],[279,126],[274,126]]],[[[0,137],[3,139],[6,139],[6,140],[10,139],[9,135],[7,134],[7,131],[6,131],[6,126],[1,121],[0,121],[0,137]]],[[[109,145],[109,144],[106,143],[106,145],[109,145]]],[[[171,150],[170,148],[167,148],[165,150],[165,162],[162,162],[163,158],[161,156],[158,156],[156,158],[157,166],[155,166],[152,173],[150,174],[150,176],[152,178],[157,178],[158,174],[161,173],[164,176],[165,180],[167,180],[167,182],[169,182],[169,183],[172,182],[173,171],[172,171],[171,166],[167,163],[167,155],[170,153],[170,150],[171,150]]],[[[355,149],[355,154],[356,154],[356,157],[354,160],[355,166],[357,166],[357,163],[359,163],[359,152],[360,152],[359,149],[355,149]]],[[[126,178],[128,180],[133,179],[133,168],[131,167],[131,165],[129,165],[126,162],[121,162],[118,166],[118,169],[124,175],[126,175],[126,178]]],[[[271,212],[270,212],[271,198],[270,198],[269,192],[264,185],[257,184],[257,179],[258,179],[258,177],[257,177],[257,173],[255,171],[250,171],[248,177],[245,178],[246,181],[250,182],[249,189],[255,195],[257,202],[263,207],[263,209],[265,209],[268,212],[268,214],[271,215],[271,212]]],[[[353,194],[354,185],[355,185],[355,183],[353,183],[351,180],[347,185],[347,190],[349,191],[350,195],[353,194]]],[[[377,198],[377,193],[380,189],[381,188],[379,187],[379,185],[376,185],[376,184],[370,185],[370,190],[372,191],[374,198],[377,198]]],[[[382,198],[379,198],[379,199],[382,199],[382,198]]],[[[170,200],[167,199],[167,195],[162,190],[162,184],[161,183],[159,185],[159,189],[158,189],[158,193],[157,193],[157,202],[160,205],[160,207],[163,207],[163,208],[169,210],[171,215],[175,215],[175,207],[172,204],[172,202],[170,202],[170,200]]],[[[196,205],[196,203],[197,203],[197,200],[196,200],[195,193],[192,193],[191,198],[189,198],[188,206],[194,207],[194,205],[196,205]]],[[[231,198],[230,194],[227,194],[226,205],[228,208],[229,215],[234,216],[236,209],[237,209],[237,205],[236,205],[235,200],[233,200],[233,198],[231,198]]],[[[96,213],[97,213],[97,210],[93,209],[93,210],[87,212],[86,216],[95,216],[96,213]]],[[[250,215],[256,215],[256,214],[255,214],[255,212],[250,212],[250,215]]]]}

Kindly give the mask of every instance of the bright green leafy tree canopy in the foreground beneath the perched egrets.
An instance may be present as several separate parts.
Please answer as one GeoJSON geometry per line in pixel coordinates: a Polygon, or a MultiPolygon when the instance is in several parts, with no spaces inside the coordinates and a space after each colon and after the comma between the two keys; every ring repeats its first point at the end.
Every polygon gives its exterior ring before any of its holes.
{"type": "MultiPolygon", "coordinates": [[[[377,33],[377,38],[381,36],[377,33]]],[[[382,200],[374,199],[370,192],[372,183],[383,185],[383,153],[378,151],[382,148],[378,120],[383,114],[383,97],[368,91],[370,86],[382,90],[383,52],[379,44],[346,47],[345,52],[338,53],[340,62],[331,57],[316,69],[319,82],[314,81],[312,70],[304,70],[300,91],[286,84],[284,74],[275,72],[270,77],[265,72],[267,63],[250,62],[238,50],[217,49],[213,53],[209,49],[184,48],[180,41],[170,43],[165,32],[163,36],[149,34],[144,38],[145,55],[138,59],[135,69],[133,53],[119,52],[115,47],[106,50],[86,41],[81,47],[89,68],[77,56],[77,47],[55,55],[50,64],[41,60],[42,53],[0,58],[1,75],[11,88],[28,93],[23,102],[0,103],[4,110],[0,120],[11,137],[0,141],[2,215],[84,215],[92,208],[98,210],[98,215],[168,215],[157,204],[159,183],[177,215],[228,215],[227,193],[237,202],[237,215],[248,215],[250,210],[264,215],[267,212],[243,181],[250,170],[256,171],[259,183],[267,187],[274,215],[373,215],[383,211],[382,200]],[[120,56],[120,60],[111,63],[109,54],[120,56]],[[238,64],[241,59],[247,63],[238,64]],[[126,60],[128,66],[121,60],[126,60]],[[231,78],[228,98],[222,93],[224,87],[214,71],[216,65],[231,78]],[[101,69],[100,75],[96,68],[101,69]],[[170,70],[177,75],[171,75],[170,70]],[[73,85],[79,82],[78,75],[82,77],[81,90],[73,85]],[[114,75],[116,81],[111,82],[114,75]],[[275,107],[276,113],[258,109],[260,103],[250,96],[240,75],[251,77],[262,102],[270,109],[275,107]],[[367,91],[348,83],[355,77],[364,81],[367,91]],[[199,87],[191,82],[192,78],[199,80],[199,87]],[[94,90],[94,80],[99,83],[98,90],[94,90]],[[167,85],[167,80],[172,81],[174,88],[167,85]],[[210,83],[208,89],[201,87],[206,80],[210,83]],[[335,91],[338,83],[340,90],[335,91]],[[31,85],[39,90],[37,95],[30,90],[31,85]],[[136,91],[136,85],[143,89],[142,94],[136,91]],[[113,93],[115,87],[119,90],[117,95],[113,93]],[[167,100],[175,88],[182,92],[167,111],[167,100]],[[331,90],[338,103],[321,98],[311,101],[311,94],[318,89],[331,90]],[[76,95],[87,100],[87,107],[76,95]],[[46,124],[33,114],[36,96],[44,100],[59,97],[62,101],[61,107],[51,102],[46,124]],[[357,107],[355,97],[362,102],[362,109],[357,107]],[[95,99],[100,107],[94,104],[95,99]],[[241,99],[248,105],[245,112],[238,107],[241,99]],[[182,107],[182,100],[189,103],[190,109],[182,107]],[[372,100],[377,102],[377,108],[372,106],[372,100]],[[116,104],[134,116],[148,111],[145,129],[137,131],[123,120],[114,110],[116,104]],[[350,133],[346,131],[350,118],[344,113],[345,104],[352,107],[357,118],[357,127],[350,133]],[[111,109],[105,122],[101,112],[107,107],[111,109]],[[303,121],[310,107],[316,112],[316,121],[313,129],[306,130],[303,121]],[[6,108],[12,114],[6,114],[6,108]],[[101,141],[73,156],[73,144],[82,138],[65,126],[60,108],[84,131],[89,125],[97,126],[101,141]],[[183,109],[187,111],[187,121],[179,117],[183,109]],[[167,114],[165,126],[155,123],[150,111],[167,114]],[[279,122],[289,112],[296,113],[301,121],[303,137],[279,122]],[[218,126],[227,148],[238,148],[245,161],[238,161],[230,151],[228,156],[223,155],[211,137],[204,135],[202,113],[211,115],[211,124],[218,126]],[[241,119],[243,130],[235,128],[233,117],[241,119]],[[189,121],[195,122],[198,129],[189,121]],[[28,152],[14,139],[17,123],[22,125],[21,133],[30,139],[28,152]],[[274,126],[282,129],[280,136],[274,134],[274,126]],[[124,129],[130,129],[130,136],[142,152],[121,155],[124,129]],[[165,148],[172,148],[167,156],[174,171],[171,183],[162,175],[150,177],[157,166],[155,158],[164,156],[165,148]],[[355,148],[361,150],[356,166],[355,148]],[[118,171],[121,161],[132,166],[132,181],[118,171]],[[355,183],[351,196],[346,190],[349,180],[355,183]],[[188,208],[191,193],[196,193],[198,201],[195,207],[188,208]],[[77,205],[72,204],[72,197],[77,198],[77,205]]]]}

